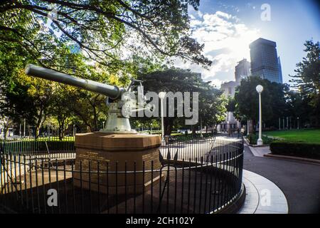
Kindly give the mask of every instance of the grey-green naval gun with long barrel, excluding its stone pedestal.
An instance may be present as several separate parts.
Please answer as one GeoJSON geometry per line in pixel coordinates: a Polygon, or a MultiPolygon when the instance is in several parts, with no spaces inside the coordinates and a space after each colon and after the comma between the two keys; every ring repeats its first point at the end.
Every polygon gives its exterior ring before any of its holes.
{"type": "Polygon", "coordinates": [[[100,130],[102,133],[136,134],[137,132],[132,130],[129,123],[129,116],[131,113],[138,110],[145,110],[147,108],[154,108],[153,106],[146,104],[142,81],[135,79],[132,79],[128,88],[119,88],[118,86],[111,86],[84,78],[77,78],[49,68],[35,66],[33,64],[26,65],[25,73],[28,76],[35,76],[37,78],[43,78],[49,81],[55,81],[106,95],[108,97],[107,105],[109,105],[110,108],[108,110],[107,123],[104,128],[100,130]],[[135,85],[137,83],[138,86],[135,85]],[[136,88],[137,90],[134,90],[136,88]],[[134,110],[134,107],[137,107],[135,95],[141,96],[138,100],[140,102],[142,101],[144,105],[146,104],[146,108],[134,110]]]}

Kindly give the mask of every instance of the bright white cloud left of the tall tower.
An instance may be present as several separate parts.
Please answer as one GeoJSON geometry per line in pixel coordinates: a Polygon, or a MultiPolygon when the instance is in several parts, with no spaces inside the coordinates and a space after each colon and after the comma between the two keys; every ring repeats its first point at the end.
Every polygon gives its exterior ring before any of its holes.
{"type": "Polygon", "coordinates": [[[176,59],[174,65],[200,72],[205,81],[212,81],[216,86],[235,80],[237,62],[242,58],[250,61],[249,43],[260,37],[260,31],[248,28],[238,17],[223,11],[216,11],[215,14],[193,11],[190,25],[192,37],[205,44],[203,54],[213,61],[213,65],[206,70],[193,63],[184,63],[181,59],[176,59]]]}

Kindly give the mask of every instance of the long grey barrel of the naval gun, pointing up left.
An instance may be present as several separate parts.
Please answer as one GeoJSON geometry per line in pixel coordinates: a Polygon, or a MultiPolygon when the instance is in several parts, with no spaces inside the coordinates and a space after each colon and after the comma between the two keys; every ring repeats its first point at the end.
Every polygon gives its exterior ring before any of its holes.
{"type": "Polygon", "coordinates": [[[110,86],[104,83],[98,83],[83,78],[76,78],[65,73],[54,71],[52,69],[35,66],[28,64],[25,68],[25,72],[29,76],[35,76],[37,78],[43,78],[58,83],[63,83],[69,86],[75,86],[78,88],[84,88],[95,93],[107,95],[112,99],[120,98],[123,88],[117,86],[110,86]]]}

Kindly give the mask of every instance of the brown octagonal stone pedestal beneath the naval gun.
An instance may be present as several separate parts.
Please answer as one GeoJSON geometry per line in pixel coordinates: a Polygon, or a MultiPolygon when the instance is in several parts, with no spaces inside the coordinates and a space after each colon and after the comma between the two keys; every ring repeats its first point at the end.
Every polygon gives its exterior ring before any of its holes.
{"type": "Polygon", "coordinates": [[[159,135],[78,134],[75,170],[79,172],[75,173],[74,185],[109,195],[122,195],[126,187],[127,194],[142,193],[151,182],[159,182],[159,172],[146,171],[151,170],[151,161],[154,170],[160,169],[160,145],[159,135]]]}

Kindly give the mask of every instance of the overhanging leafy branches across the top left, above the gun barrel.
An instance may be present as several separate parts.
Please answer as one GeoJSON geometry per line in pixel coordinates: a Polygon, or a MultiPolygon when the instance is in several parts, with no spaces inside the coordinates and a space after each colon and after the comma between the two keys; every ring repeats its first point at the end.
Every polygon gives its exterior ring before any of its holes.
{"type": "Polygon", "coordinates": [[[197,10],[198,5],[198,0],[1,1],[0,41],[42,56],[36,60],[45,65],[58,57],[51,49],[63,42],[110,71],[126,66],[124,52],[178,56],[207,66],[211,61],[201,54],[203,45],[189,31],[188,6],[197,10]]]}

